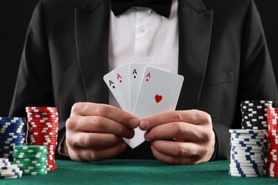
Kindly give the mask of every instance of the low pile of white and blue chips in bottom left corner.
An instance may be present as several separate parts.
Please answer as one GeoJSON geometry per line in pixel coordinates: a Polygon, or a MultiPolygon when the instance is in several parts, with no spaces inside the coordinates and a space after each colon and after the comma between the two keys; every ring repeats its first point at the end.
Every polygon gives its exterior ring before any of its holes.
{"type": "Polygon", "coordinates": [[[16,164],[11,164],[9,159],[0,158],[0,179],[17,179],[22,176],[22,171],[16,164]]]}

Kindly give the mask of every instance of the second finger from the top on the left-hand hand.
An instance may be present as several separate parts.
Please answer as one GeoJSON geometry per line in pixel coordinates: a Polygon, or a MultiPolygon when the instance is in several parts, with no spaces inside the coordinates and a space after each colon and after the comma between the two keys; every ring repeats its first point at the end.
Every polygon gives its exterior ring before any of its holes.
{"type": "Polygon", "coordinates": [[[128,139],[134,136],[134,129],[100,116],[71,117],[67,120],[66,126],[67,129],[80,132],[111,133],[128,139]]]}

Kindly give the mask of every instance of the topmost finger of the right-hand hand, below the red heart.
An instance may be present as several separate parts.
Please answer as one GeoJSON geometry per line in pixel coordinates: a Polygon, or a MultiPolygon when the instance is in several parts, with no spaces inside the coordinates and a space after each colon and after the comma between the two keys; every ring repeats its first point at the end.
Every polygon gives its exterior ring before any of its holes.
{"type": "Polygon", "coordinates": [[[211,118],[206,112],[200,110],[172,111],[143,118],[140,120],[139,128],[148,130],[168,122],[187,122],[194,125],[205,125],[211,123],[211,118]]]}

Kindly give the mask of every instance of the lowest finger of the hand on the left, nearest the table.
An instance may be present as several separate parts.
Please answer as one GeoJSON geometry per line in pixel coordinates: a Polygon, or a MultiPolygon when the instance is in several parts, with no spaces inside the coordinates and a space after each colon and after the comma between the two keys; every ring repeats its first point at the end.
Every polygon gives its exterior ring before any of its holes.
{"type": "Polygon", "coordinates": [[[76,148],[70,153],[70,158],[79,162],[101,161],[111,159],[118,156],[118,154],[125,151],[127,144],[120,142],[113,147],[106,147],[101,149],[86,149],[76,148]]]}

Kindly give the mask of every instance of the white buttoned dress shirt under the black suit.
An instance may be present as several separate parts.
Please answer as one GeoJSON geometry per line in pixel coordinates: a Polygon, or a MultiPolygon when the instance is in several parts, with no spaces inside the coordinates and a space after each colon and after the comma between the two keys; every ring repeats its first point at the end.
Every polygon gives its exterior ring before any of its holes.
{"type": "MultiPolygon", "coordinates": [[[[120,16],[111,11],[109,30],[109,70],[132,58],[150,57],[153,63],[169,63],[170,71],[177,73],[177,0],[173,0],[169,18],[141,7],[120,16]]],[[[109,104],[119,107],[111,93],[109,104]]]]}

